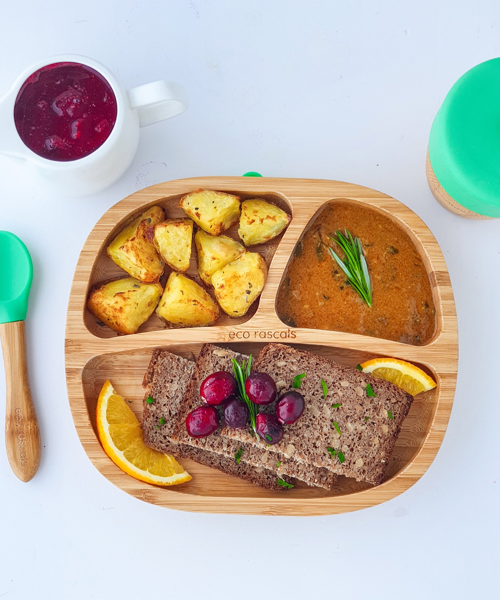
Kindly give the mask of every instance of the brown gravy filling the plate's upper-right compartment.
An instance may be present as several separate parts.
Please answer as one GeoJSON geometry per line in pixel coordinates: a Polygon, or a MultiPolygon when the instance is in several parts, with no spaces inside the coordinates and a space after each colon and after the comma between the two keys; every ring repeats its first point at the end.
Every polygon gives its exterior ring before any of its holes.
{"type": "Polygon", "coordinates": [[[380,212],[354,202],[331,202],[313,217],[297,242],[276,300],[288,326],[370,335],[423,346],[436,331],[429,275],[417,248],[401,227],[380,212]],[[335,262],[329,238],[349,229],[363,245],[370,277],[370,308],[335,262]]]}

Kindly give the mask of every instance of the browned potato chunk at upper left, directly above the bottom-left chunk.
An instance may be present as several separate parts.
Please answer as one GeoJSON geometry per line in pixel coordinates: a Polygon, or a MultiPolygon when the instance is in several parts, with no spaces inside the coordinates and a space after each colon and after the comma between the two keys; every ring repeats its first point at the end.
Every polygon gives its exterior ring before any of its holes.
{"type": "Polygon", "coordinates": [[[142,283],[155,283],[163,273],[164,263],[152,244],[154,226],[165,218],[160,206],[151,206],[127,225],[106,248],[120,268],[142,283]]]}

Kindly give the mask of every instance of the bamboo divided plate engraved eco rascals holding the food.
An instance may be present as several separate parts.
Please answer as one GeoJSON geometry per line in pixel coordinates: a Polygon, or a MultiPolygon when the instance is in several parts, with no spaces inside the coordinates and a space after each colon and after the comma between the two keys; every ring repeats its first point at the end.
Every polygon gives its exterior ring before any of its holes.
{"type": "MultiPolygon", "coordinates": [[[[236,237],[236,229],[237,226],[229,230],[229,235],[236,237]]],[[[188,274],[196,272],[193,250],[188,274]]],[[[186,511],[323,515],[366,508],[403,493],[426,472],[441,445],[453,404],[457,358],[453,292],[444,258],[432,233],[417,215],[390,196],[339,181],[206,177],[169,181],[137,191],[110,208],[92,229],[77,263],[68,304],[65,342],[68,397],[85,452],[109,481],[128,494],[186,511]],[[292,214],[285,233],[268,244],[252,247],[252,251],[263,254],[269,267],[260,300],[244,317],[223,316],[211,327],[164,329],[155,314],[134,335],[117,335],[103,327],[86,310],[88,291],[98,281],[125,275],[106,256],[106,245],[148,206],[162,206],[168,217],[182,216],[179,198],[197,188],[228,191],[242,199],[258,196],[292,214]],[[369,205],[396,221],[420,252],[429,272],[437,316],[435,337],[426,346],[335,331],[288,328],[277,317],[276,292],[304,227],[325,202],[346,199],[369,205]],[[373,487],[341,476],[331,491],[299,483],[291,490],[274,492],[193,461],[181,460],[193,479],[186,484],[161,488],[131,478],[104,453],[95,428],[95,405],[106,379],[111,380],[119,394],[132,401],[129,406],[140,419],[142,378],[153,349],[164,348],[192,358],[203,343],[212,342],[256,355],[270,341],[293,344],[352,367],[376,356],[393,356],[418,364],[435,378],[436,388],[415,398],[381,485],[373,487]]]]}

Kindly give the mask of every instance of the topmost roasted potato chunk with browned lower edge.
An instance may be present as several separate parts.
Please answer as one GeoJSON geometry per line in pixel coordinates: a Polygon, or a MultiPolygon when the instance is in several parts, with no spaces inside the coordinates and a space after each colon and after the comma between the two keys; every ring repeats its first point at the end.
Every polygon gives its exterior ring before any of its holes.
{"type": "Polygon", "coordinates": [[[219,235],[238,223],[239,197],[221,191],[196,190],[183,196],[182,210],[207,233],[219,235]]]}

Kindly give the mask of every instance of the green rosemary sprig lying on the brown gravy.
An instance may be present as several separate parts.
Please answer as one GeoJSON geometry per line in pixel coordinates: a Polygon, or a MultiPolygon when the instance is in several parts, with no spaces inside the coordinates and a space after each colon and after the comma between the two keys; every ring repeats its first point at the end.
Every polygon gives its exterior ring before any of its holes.
{"type": "Polygon", "coordinates": [[[345,262],[342,262],[333,251],[333,248],[329,247],[330,254],[337,261],[342,271],[345,272],[351,286],[354,287],[367,305],[372,306],[372,282],[370,281],[360,238],[353,239],[348,229],[345,230],[345,235],[337,229],[335,235],[336,237],[331,235],[330,238],[342,248],[345,254],[345,262]]]}

